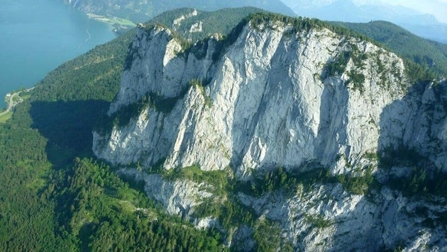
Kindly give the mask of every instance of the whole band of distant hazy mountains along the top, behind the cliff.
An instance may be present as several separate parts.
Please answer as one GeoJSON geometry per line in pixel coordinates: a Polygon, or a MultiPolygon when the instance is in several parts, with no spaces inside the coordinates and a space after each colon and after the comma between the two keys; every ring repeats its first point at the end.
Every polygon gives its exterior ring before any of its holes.
{"type": "Polygon", "coordinates": [[[410,32],[438,42],[447,43],[447,24],[429,14],[422,14],[403,6],[392,6],[380,1],[352,0],[60,0],[85,13],[126,18],[143,23],[150,18],[175,8],[197,8],[216,11],[221,8],[253,6],[286,16],[307,16],[326,21],[367,23],[390,21],[410,32]],[[360,4],[364,2],[366,4],[360,4]]]}

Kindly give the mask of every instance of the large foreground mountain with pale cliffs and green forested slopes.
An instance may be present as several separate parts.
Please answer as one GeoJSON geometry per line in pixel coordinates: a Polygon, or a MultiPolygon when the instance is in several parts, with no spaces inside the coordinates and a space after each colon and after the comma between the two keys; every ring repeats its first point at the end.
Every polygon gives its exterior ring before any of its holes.
{"type": "Polygon", "coordinates": [[[445,249],[446,81],[251,11],[163,13],[40,81],[0,124],[0,251],[445,249]]]}

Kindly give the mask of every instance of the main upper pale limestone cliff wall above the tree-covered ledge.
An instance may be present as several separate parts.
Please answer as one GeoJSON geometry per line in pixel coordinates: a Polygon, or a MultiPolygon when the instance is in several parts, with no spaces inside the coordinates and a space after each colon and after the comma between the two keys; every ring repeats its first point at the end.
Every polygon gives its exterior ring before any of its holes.
{"type": "Polygon", "coordinates": [[[382,110],[404,96],[402,60],[324,28],[286,35],[291,29],[247,24],[223,50],[211,39],[197,53],[180,52],[169,30],[140,29],[109,115],[148,93],[172,108],[148,106],[127,125],[95,133],[96,155],[146,166],[165,159],[167,169],[232,166],[240,177],[313,160],[349,172],[347,163],[377,151],[382,110]],[[331,76],[327,66],[346,53],[352,57],[331,76]]]}

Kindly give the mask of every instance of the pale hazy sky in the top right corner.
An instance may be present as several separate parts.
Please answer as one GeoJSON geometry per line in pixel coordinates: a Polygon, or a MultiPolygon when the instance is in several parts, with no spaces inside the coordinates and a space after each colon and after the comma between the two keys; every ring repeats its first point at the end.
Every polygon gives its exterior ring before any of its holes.
{"type": "Polygon", "coordinates": [[[387,0],[382,2],[391,5],[400,4],[422,13],[430,13],[436,16],[438,21],[447,23],[447,0],[387,0]]]}

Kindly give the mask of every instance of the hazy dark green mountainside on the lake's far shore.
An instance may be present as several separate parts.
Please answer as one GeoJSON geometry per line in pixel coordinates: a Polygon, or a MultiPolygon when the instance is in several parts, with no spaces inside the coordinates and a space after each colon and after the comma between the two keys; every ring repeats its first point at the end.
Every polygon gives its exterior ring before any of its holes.
{"type": "Polygon", "coordinates": [[[165,11],[176,8],[198,8],[202,11],[216,11],[221,8],[237,8],[251,6],[267,11],[294,16],[294,12],[280,0],[242,0],[242,1],[204,1],[204,0],[175,0],[175,1],[135,1],[135,0],[62,0],[65,4],[84,11],[105,16],[126,18],[135,23],[148,21],[165,11]]]}

